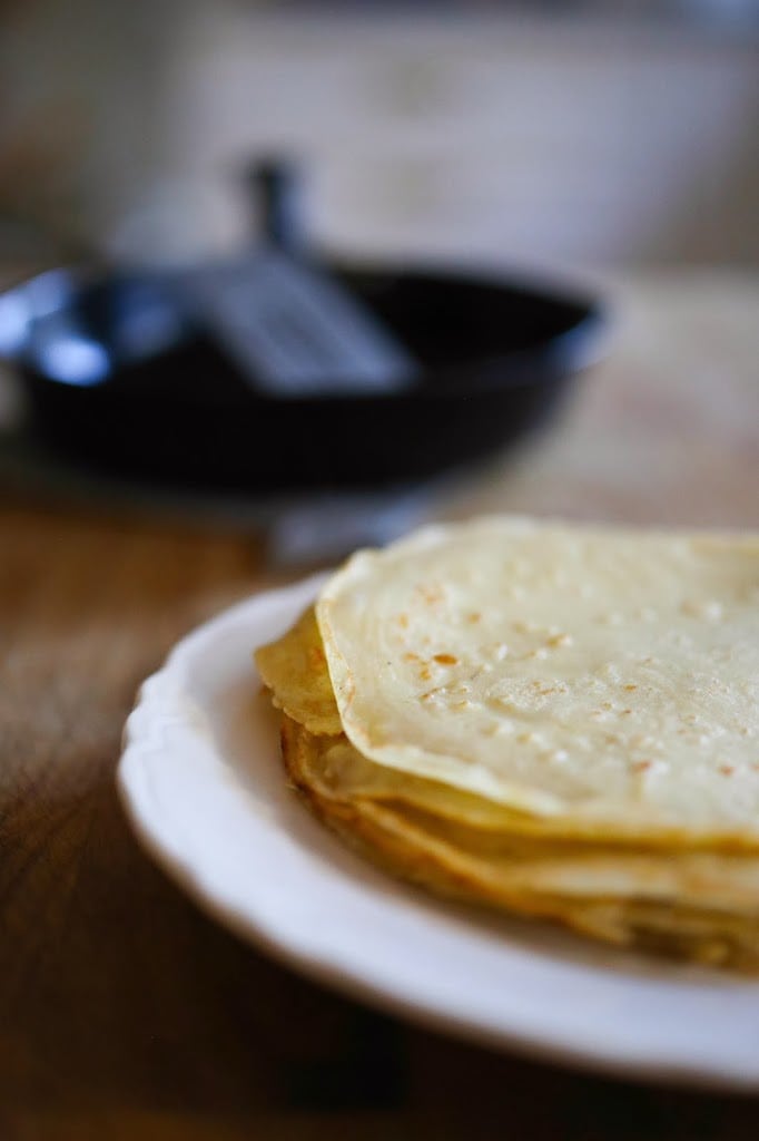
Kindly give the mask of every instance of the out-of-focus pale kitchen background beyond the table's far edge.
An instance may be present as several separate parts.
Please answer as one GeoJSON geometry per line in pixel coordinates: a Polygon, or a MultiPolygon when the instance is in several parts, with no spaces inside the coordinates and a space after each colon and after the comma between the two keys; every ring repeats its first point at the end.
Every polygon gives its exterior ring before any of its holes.
{"type": "Polygon", "coordinates": [[[758,44],[758,0],[2,0],[0,249],[235,248],[266,149],[330,250],[753,266],[758,44]]]}

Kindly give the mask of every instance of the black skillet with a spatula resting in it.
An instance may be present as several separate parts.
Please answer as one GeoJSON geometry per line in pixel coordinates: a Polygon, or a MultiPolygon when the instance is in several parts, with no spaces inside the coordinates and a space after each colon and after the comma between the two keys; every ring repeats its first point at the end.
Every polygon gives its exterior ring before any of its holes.
{"type": "Polygon", "coordinates": [[[597,354],[597,302],[497,277],[328,265],[413,354],[387,395],[272,397],[161,275],[59,269],[0,296],[32,430],[77,464],[195,488],[376,486],[491,455],[542,424],[597,354]]]}

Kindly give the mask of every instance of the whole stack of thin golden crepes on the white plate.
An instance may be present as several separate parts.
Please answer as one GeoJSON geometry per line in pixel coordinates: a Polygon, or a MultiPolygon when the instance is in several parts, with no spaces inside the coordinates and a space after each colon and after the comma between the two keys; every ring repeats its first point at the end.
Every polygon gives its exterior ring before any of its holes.
{"type": "Polygon", "coordinates": [[[759,969],[759,536],[430,527],[256,662],[293,784],[384,867],[759,969]]]}

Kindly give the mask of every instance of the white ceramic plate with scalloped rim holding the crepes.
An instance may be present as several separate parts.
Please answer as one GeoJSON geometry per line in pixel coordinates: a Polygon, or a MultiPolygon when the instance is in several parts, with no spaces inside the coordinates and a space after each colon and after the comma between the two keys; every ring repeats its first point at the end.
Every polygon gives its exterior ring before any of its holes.
{"type": "Polygon", "coordinates": [[[759,1089],[759,986],[439,901],[309,816],[251,655],[319,582],[227,610],[142,687],[119,779],[155,859],[244,938],[394,1013],[573,1065],[759,1089]]]}

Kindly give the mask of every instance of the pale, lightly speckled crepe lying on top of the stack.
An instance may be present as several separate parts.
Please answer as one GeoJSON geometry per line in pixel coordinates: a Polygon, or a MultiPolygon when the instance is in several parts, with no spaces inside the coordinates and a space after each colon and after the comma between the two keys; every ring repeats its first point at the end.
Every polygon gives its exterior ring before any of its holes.
{"type": "Polygon", "coordinates": [[[562,830],[759,847],[759,540],[480,519],[362,551],[317,620],[372,761],[562,830]]]}

